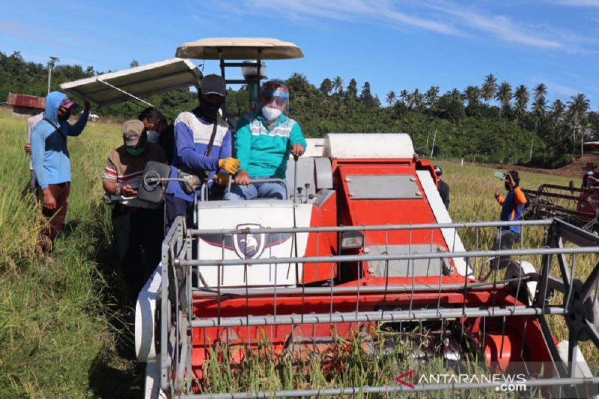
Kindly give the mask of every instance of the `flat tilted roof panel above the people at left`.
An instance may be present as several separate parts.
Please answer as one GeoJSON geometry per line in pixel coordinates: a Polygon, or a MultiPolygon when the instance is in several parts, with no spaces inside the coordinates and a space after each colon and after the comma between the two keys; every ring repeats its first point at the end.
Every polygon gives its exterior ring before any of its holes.
{"type": "Polygon", "coordinates": [[[171,58],[62,83],[60,89],[104,106],[181,87],[198,87],[201,79],[202,72],[190,60],[171,58]]]}

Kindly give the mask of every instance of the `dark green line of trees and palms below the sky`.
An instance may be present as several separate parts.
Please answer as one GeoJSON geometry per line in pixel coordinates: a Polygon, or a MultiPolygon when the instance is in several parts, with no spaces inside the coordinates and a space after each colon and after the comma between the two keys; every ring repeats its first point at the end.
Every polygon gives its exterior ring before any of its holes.
{"type": "MultiPolygon", "coordinates": [[[[101,72],[92,66],[58,65],[51,57],[46,65],[26,62],[18,51],[8,56],[0,52],[0,99],[8,92],[44,96],[47,73],[52,67],[52,90],[65,81],[92,77],[101,72]]],[[[136,65],[134,60],[131,65],[136,65]]],[[[426,91],[390,90],[383,105],[371,93],[366,81],[342,77],[325,78],[319,86],[305,75],[291,74],[285,82],[291,93],[289,115],[297,120],[306,136],[327,133],[408,133],[416,150],[430,156],[463,157],[492,163],[519,163],[559,167],[582,151],[582,142],[599,133],[599,114],[591,110],[589,99],[579,93],[569,99],[547,101],[547,87],[501,83],[486,75],[480,86],[441,93],[438,86],[426,91]],[[432,138],[436,136],[435,147],[432,138]]],[[[171,90],[144,98],[173,118],[194,108],[196,93],[171,90]]],[[[248,109],[247,87],[228,89],[227,108],[234,114],[248,109]]],[[[128,102],[106,106],[98,111],[103,119],[134,118],[143,106],[128,102]]]]}

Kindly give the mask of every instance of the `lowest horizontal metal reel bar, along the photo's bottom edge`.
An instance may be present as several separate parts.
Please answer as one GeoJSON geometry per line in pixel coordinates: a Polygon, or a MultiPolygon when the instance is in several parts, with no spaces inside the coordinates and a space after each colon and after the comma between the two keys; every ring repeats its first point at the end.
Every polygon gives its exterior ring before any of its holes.
{"type": "MultiPolygon", "coordinates": [[[[599,377],[591,378],[543,378],[525,379],[522,382],[525,388],[540,388],[543,386],[566,386],[575,385],[579,390],[585,386],[599,383],[599,377]]],[[[407,385],[384,385],[384,386],[352,386],[349,388],[323,388],[323,389],[294,389],[288,391],[253,391],[240,392],[237,394],[198,394],[184,395],[185,399],[250,399],[250,398],[289,398],[289,397],[319,397],[319,396],[341,396],[341,395],[365,395],[365,394],[410,394],[413,392],[435,392],[435,391],[471,391],[472,389],[495,389],[499,391],[504,382],[468,382],[449,384],[414,384],[407,385]]],[[[558,396],[559,397],[559,396],[558,396]]]]}

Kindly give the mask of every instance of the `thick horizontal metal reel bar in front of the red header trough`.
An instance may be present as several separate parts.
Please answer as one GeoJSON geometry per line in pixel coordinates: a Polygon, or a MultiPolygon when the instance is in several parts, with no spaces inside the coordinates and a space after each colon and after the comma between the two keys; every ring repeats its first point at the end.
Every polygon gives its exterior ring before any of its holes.
{"type": "Polygon", "coordinates": [[[190,322],[190,327],[241,327],[247,325],[323,324],[370,321],[418,321],[473,317],[565,315],[559,306],[477,306],[476,308],[381,310],[380,312],[304,313],[303,315],[242,316],[202,318],[190,322]]]}

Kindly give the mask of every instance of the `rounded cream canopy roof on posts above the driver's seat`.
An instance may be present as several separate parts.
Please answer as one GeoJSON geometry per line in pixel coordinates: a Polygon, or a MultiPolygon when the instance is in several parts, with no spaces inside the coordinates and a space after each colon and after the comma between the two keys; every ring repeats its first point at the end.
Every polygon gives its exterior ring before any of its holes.
{"type": "Polygon", "coordinates": [[[256,59],[256,51],[262,50],[262,60],[285,60],[302,58],[304,53],[297,45],[288,41],[272,38],[207,38],[190,41],[177,47],[175,54],[180,58],[202,60],[223,59],[244,60],[256,59]]]}

